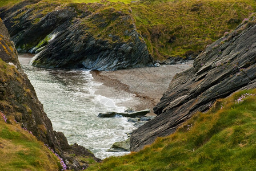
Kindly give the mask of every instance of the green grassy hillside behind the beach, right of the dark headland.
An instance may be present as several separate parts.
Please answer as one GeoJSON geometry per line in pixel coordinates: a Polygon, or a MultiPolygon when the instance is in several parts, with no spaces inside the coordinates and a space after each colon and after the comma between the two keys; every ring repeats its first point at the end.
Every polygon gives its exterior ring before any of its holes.
{"type": "MultiPolygon", "coordinates": [[[[111,18],[111,8],[116,11],[131,15],[135,19],[137,30],[145,39],[150,53],[155,59],[165,59],[169,56],[196,55],[202,51],[207,44],[211,44],[218,38],[221,38],[225,32],[230,32],[249,17],[256,10],[256,1],[254,0],[182,0],[182,1],[160,1],[146,0],[136,3],[120,0],[125,3],[115,3],[117,0],[110,0],[113,3],[99,0],[42,0],[41,5],[44,9],[42,13],[46,15],[54,9],[54,6],[47,6],[43,2],[53,3],[81,3],[81,2],[99,2],[105,6],[98,8],[98,5],[88,5],[89,10],[94,13],[103,14],[106,18],[111,18]]],[[[1,1],[0,6],[13,1],[1,1]]],[[[40,6],[38,3],[37,6],[40,6]]],[[[78,13],[83,13],[84,5],[76,5],[78,13]],[[79,9],[81,8],[81,9],[79,9]]],[[[40,8],[40,9],[42,9],[40,8]]],[[[34,23],[37,23],[34,21],[34,23]]],[[[118,25],[111,23],[105,28],[99,30],[97,26],[92,25],[90,21],[83,21],[86,26],[91,26],[95,30],[95,36],[99,31],[106,32],[106,38],[109,32],[115,31],[115,35],[122,35],[124,31],[118,25]],[[114,29],[116,28],[116,29],[114,29]],[[118,34],[119,31],[119,34],[118,34]]]]}

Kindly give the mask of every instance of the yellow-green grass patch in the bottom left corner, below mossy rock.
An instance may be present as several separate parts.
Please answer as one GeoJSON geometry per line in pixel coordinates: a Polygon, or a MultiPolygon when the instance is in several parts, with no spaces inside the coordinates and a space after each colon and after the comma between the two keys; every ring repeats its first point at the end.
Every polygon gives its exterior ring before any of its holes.
{"type": "Polygon", "coordinates": [[[0,116],[1,170],[61,170],[58,158],[41,141],[10,118],[7,121],[0,116]]]}

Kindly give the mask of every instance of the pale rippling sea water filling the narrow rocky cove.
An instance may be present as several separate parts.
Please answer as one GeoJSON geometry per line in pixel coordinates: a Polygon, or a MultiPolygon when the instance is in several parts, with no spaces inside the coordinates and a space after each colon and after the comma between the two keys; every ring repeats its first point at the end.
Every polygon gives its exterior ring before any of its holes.
{"type": "Polygon", "coordinates": [[[123,99],[95,95],[95,87],[101,83],[93,82],[89,71],[36,68],[27,64],[29,58],[19,56],[55,131],[63,132],[70,144],[83,145],[99,158],[126,154],[107,149],[127,139],[126,133],[135,129],[133,124],[124,117],[97,117],[100,112],[123,111],[125,107],[115,105],[123,99]]]}

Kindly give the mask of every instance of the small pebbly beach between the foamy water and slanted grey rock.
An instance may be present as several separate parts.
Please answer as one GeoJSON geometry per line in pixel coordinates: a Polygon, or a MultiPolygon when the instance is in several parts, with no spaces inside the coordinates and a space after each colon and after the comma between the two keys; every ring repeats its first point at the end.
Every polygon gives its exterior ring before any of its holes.
{"type": "Polygon", "coordinates": [[[160,67],[133,68],[118,71],[91,71],[94,82],[103,83],[95,93],[111,99],[122,99],[119,106],[132,107],[139,111],[153,107],[159,102],[169,87],[173,76],[190,68],[193,61],[160,67]]]}

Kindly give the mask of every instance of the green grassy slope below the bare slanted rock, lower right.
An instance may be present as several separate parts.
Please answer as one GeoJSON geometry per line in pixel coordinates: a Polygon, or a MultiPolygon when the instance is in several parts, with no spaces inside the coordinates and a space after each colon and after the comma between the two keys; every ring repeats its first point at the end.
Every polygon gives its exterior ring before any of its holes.
{"type": "Polygon", "coordinates": [[[89,170],[256,170],[256,96],[236,104],[243,93],[256,94],[256,89],[218,100],[173,135],[89,170]]]}

